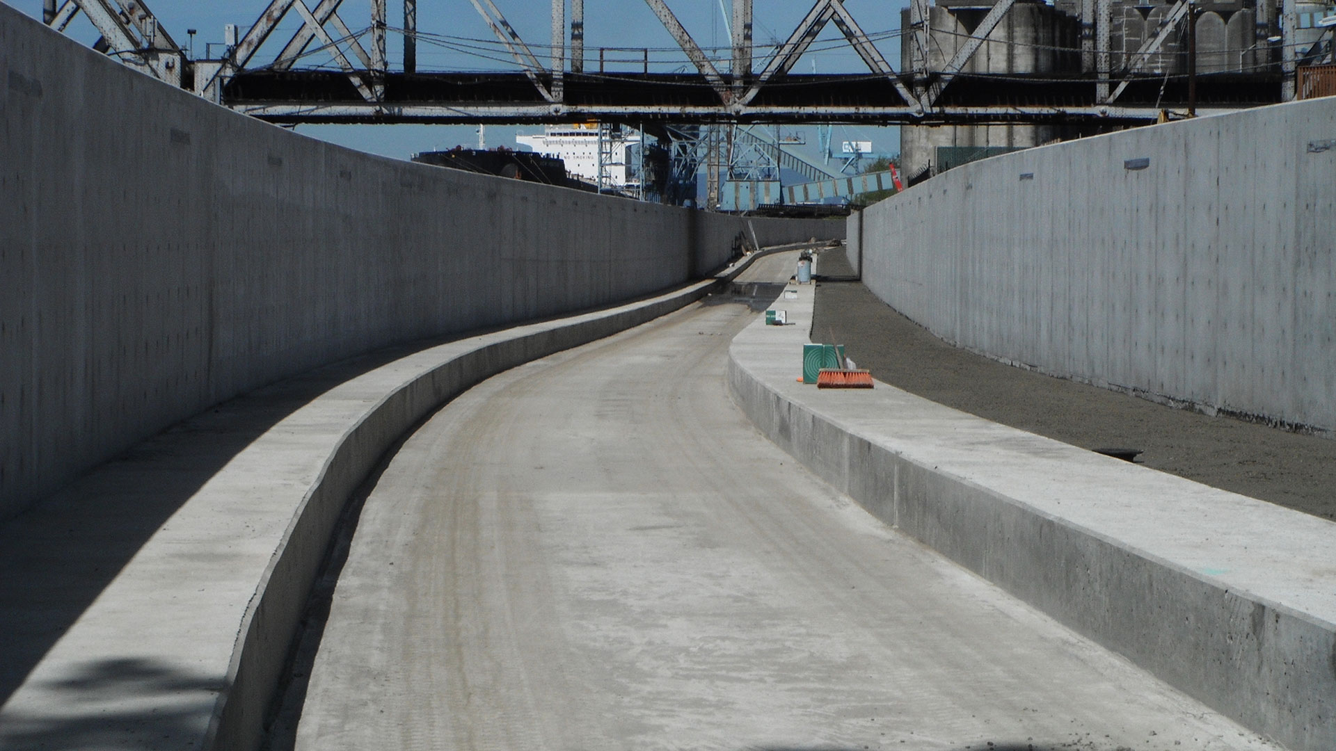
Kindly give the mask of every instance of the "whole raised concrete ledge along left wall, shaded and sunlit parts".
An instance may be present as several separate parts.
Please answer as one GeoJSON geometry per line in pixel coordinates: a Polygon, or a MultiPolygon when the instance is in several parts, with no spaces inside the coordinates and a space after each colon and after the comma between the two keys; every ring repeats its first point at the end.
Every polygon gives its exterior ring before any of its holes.
{"type": "MultiPolygon", "coordinates": [[[[760,255],[617,307],[401,347],[407,354],[378,358],[370,370],[354,362],[313,371],[219,405],[99,468],[5,531],[7,544],[41,548],[9,552],[44,565],[52,576],[39,579],[53,591],[87,592],[71,596],[61,620],[44,615],[52,601],[40,591],[24,591],[33,623],[61,632],[21,641],[20,661],[40,652],[0,698],[0,747],[255,748],[346,501],[399,437],[474,384],[677,310],[760,255]],[[203,472],[194,469],[202,454],[203,472]],[[75,539],[92,549],[69,549],[67,528],[90,506],[100,512],[99,531],[75,539]],[[143,541],[99,555],[104,537],[126,535],[118,517],[139,513],[148,525],[131,532],[143,541]],[[77,571],[114,572],[104,583],[86,587],[63,573],[61,556],[84,552],[94,560],[77,571]]],[[[11,616],[7,624],[28,628],[21,613],[11,616]]]]}

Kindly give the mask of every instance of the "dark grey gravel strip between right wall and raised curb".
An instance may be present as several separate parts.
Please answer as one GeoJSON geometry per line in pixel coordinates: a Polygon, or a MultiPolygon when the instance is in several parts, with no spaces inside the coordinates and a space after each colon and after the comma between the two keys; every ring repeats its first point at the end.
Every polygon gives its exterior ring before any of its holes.
{"type": "Polygon", "coordinates": [[[995,362],[951,346],[878,299],[843,250],[820,254],[812,339],[846,345],[892,386],[1085,449],[1141,449],[1137,464],[1336,520],[1336,441],[995,362]]]}

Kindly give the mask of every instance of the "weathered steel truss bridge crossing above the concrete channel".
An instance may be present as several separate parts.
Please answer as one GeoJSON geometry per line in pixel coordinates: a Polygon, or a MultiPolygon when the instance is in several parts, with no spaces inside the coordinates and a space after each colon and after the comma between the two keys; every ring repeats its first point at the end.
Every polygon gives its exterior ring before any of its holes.
{"type": "MultiPolygon", "coordinates": [[[[462,1],[462,0],[456,0],[462,1]]],[[[403,0],[403,27],[386,23],[385,0],[370,0],[363,31],[341,17],[343,0],[273,0],[216,60],[191,60],[160,28],[142,0],[45,0],[45,21],[64,29],[83,12],[102,33],[99,48],[119,60],[214,102],[275,123],[570,123],[617,122],[651,132],[669,123],[989,124],[1054,123],[1118,127],[1153,122],[1164,102],[1181,107],[1188,88],[1202,112],[1295,98],[1304,52],[1289,35],[1297,0],[1283,0],[1280,19],[1259,23],[1259,43],[1281,35],[1281,61],[1256,73],[1212,73],[1168,80],[1148,61],[1198,9],[1177,0],[1158,32],[1121,69],[1110,65],[1110,0],[1081,0],[1081,67],[1069,73],[969,73],[963,71],[1018,0],[997,0],[945,65],[929,69],[929,1],[910,0],[910,69],[896,71],[843,0],[816,0],[788,39],[754,59],[752,0],[732,0],[731,55],[707,55],[665,0],[644,0],[685,55],[689,72],[587,69],[584,0],[552,0],[552,39],[537,55],[493,0],[469,0],[514,72],[418,71],[417,0],[403,0]],[[566,3],[570,17],[566,19],[566,3]],[[307,4],[311,3],[311,4],[307,4]],[[301,28],[270,61],[257,53],[279,21],[301,28]],[[799,75],[794,65],[834,24],[867,67],[862,75],[799,75]],[[386,33],[403,35],[402,65],[386,59],[386,33]],[[337,69],[299,67],[313,53],[337,69]],[[691,69],[693,68],[693,69],[691,69]]],[[[981,3],[986,5],[986,3],[981,3]]],[[[1263,3],[1261,8],[1273,8],[1263,3]]],[[[361,20],[361,19],[359,19],[361,20]]]]}

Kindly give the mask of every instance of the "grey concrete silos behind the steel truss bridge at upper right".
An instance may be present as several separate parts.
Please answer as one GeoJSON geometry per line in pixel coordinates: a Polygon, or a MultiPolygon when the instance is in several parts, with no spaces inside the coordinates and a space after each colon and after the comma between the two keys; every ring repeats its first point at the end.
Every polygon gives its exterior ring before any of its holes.
{"type": "MultiPolygon", "coordinates": [[[[1093,0],[1086,4],[1096,7],[1093,0]]],[[[1181,102],[1184,79],[1188,75],[1189,29],[1178,19],[1182,15],[1176,3],[1166,0],[1101,0],[1109,23],[1108,40],[1093,39],[1093,24],[1082,27],[1082,0],[1057,0],[1049,5],[1038,0],[1017,0],[1001,23],[979,45],[978,52],[963,65],[961,78],[971,75],[1014,75],[1017,80],[1035,80],[1050,76],[1054,84],[1077,80],[1094,71],[1094,56],[1108,53],[1104,68],[1124,71],[1133,67],[1138,51],[1157,35],[1164,35],[1158,48],[1146,55],[1141,64],[1142,76],[1162,76],[1156,107],[1169,108],[1181,102]],[[1178,13],[1178,15],[1176,15],[1178,13]],[[1083,44],[1085,43],[1085,44],[1083,44]]],[[[930,79],[943,71],[955,53],[970,41],[970,35],[994,7],[987,0],[937,0],[927,12],[927,48],[918,49],[912,41],[911,9],[902,11],[900,69],[926,69],[930,79]],[[916,60],[922,56],[922,61],[916,60]],[[919,63],[916,65],[916,63],[919,63]]],[[[1096,15],[1088,9],[1088,17],[1096,15]]],[[[1296,57],[1320,59],[1329,53],[1323,33],[1331,25],[1331,5],[1297,3],[1296,24],[1292,29],[1296,57]]],[[[1234,0],[1196,3],[1193,31],[1196,35],[1196,72],[1204,79],[1214,79],[1225,86],[1244,78],[1245,86],[1255,83],[1259,73],[1275,68],[1281,61],[1281,12],[1276,0],[1234,0]]],[[[1006,80],[1006,79],[993,79],[1006,80]]],[[[1154,83],[1153,80],[1149,83],[1154,83]]],[[[1145,83],[1142,83],[1145,86],[1145,83]]],[[[1053,140],[1066,140],[1092,135],[1101,128],[1082,124],[962,124],[962,126],[906,126],[900,128],[900,167],[908,180],[918,182],[959,163],[994,156],[1017,148],[1041,146],[1053,140]]]]}

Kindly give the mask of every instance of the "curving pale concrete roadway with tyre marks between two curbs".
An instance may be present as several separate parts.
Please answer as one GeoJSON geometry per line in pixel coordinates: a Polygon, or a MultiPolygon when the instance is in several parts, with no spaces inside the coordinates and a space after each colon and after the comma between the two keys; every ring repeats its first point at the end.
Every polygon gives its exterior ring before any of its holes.
{"type": "Polygon", "coordinates": [[[1275,748],[760,436],[724,380],[756,319],[712,298],[414,433],[367,497],[297,747],[1275,748]]]}

